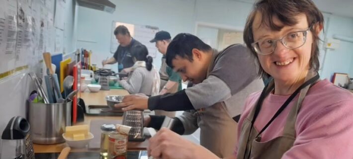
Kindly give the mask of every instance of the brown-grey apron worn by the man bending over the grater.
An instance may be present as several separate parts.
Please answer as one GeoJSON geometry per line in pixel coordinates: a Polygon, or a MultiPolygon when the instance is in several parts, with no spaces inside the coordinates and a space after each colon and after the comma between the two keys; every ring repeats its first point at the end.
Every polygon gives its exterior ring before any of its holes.
{"type": "MultiPolygon", "coordinates": [[[[220,52],[213,50],[211,64],[207,70],[207,78],[215,67],[215,60],[220,52]]],[[[233,154],[237,140],[238,124],[229,115],[224,101],[198,109],[195,112],[197,125],[200,129],[200,145],[220,158],[233,154]]]]}

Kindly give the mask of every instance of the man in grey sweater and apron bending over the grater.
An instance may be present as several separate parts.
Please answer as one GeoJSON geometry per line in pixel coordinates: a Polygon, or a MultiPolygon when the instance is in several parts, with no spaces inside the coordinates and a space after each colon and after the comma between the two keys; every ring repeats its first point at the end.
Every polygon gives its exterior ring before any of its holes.
{"type": "MultiPolygon", "coordinates": [[[[191,34],[178,34],[168,46],[167,64],[194,86],[150,98],[130,95],[117,107],[186,110],[172,128],[191,134],[200,128],[200,144],[223,158],[233,153],[237,118],[245,98],[264,86],[248,49],[240,44],[217,52],[191,34]]],[[[151,116],[149,126],[159,128],[161,118],[151,116]]]]}

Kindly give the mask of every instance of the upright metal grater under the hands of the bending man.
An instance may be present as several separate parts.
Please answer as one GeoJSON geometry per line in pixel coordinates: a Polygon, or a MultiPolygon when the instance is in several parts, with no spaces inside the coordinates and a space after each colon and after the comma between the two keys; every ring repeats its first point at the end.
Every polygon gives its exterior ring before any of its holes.
{"type": "Polygon", "coordinates": [[[143,111],[125,111],[123,115],[123,125],[131,126],[129,141],[144,141],[143,135],[143,111]]]}

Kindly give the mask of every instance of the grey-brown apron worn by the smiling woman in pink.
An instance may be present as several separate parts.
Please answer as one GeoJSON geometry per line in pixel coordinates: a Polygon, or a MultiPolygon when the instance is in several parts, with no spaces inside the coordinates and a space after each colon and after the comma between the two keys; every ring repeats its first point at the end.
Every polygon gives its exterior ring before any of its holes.
{"type": "MultiPolygon", "coordinates": [[[[237,159],[280,159],[283,154],[293,146],[293,143],[295,141],[295,122],[297,114],[310,86],[317,80],[319,80],[319,75],[315,72],[310,71],[305,79],[306,82],[301,86],[302,88],[300,89],[299,87],[296,90],[295,94],[300,91],[299,98],[297,101],[294,102],[293,107],[289,111],[282,136],[276,137],[266,142],[261,142],[261,133],[265,130],[266,126],[263,130],[261,130],[259,134],[259,132],[255,129],[252,124],[252,121],[254,123],[256,119],[256,117],[254,118],[254,116],[256,116],[256,114],[260,112],[260,109],[257,110],[256,105],[256,107],[254,107],[248,117],[244,120],[244,123],[242,125],[242,132],[239,138],[239,149],[237,159]]],[[[274,83],[272,80],[269,82],[268,86],[266,86],[263,90],[263,93],[265,93],[263,98],[265,98],[265,96],[267,96],[268,93],[272,91],[273,87],[274,83]]],[[[296,95],[293,96],[295,97],[296,95]]],[[[261,98],[262,97],[260,97],[258,102],[262,103],[261,100],[263,99],[261,98]]],[[[289,103],[290,101],[291,100],[287,100],[286,102],[289,103]]],[[[284,106],[284,108],[285,107],[286,106],[284,106]]],[[[277,111],[277,113],[278,112],[280,113],[280,111],[277,111]]],[[[274,116],[271,121],[273,121],[275,117],[276,116],[274,116]]],[[[270,122],[266,125],[268,126],[270,122]]]]}

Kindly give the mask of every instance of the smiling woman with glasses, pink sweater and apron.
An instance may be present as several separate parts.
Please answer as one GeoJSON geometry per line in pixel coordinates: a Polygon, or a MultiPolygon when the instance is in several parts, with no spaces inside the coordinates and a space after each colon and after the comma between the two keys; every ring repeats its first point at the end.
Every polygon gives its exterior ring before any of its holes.
{"type": "Polygon", "coordinates": [[[273,79],[246,101],[236,159],[353,157],[353,118],[346,118],[353,111],[353,95],[317,73],[323,24],[311,0],[254,5],[244,41],[261,66],[259,76],[273,79]]]}

